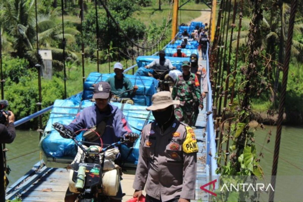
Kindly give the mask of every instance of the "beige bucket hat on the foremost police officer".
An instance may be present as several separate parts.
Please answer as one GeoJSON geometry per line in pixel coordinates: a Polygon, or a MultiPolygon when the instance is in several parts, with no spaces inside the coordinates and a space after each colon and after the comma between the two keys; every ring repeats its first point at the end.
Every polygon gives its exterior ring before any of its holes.
{"type": "Polygon", "coordinates": [[[169,91],[160,91],[154,94],[151,97],[151,101],[152,105],[146,108],[148,111],[164,109],[173,104],[180,104],[179,100],[172,100],[171,92],[169,91]]]}

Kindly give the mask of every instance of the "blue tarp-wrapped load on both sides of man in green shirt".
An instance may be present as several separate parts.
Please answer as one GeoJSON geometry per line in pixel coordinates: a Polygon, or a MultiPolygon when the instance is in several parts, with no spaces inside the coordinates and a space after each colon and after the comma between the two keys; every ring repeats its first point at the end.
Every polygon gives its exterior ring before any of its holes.
{"type": "MultiPolygon", "coordinates": [[[[93,95],[92,84],[98,83],[99,81],[105,81],[109,77],[115,76],[112,74],[101,74],[98,72],[92,72],[88,75],[88,78],[84,82],[83,99],[91,99],[93,95]]],[[[151,105],[151,96],[157,92],[158,81],[151,77],[138,76],[138,75],[127,75],[124,74],[133,85],[138,86],[133,101],[135,105],[151,105]]]]}

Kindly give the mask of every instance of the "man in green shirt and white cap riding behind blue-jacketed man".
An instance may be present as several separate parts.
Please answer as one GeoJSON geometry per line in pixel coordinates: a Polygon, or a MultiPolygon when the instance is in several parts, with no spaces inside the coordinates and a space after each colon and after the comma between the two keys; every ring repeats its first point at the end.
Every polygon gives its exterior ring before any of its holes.
{"type": "Polygon", "coordinates": [[[114,72],[115,76],[110,77],[106,80],[106,82],[109,83],[111,86],[111,91],[114,95],[119,95],[120,98],[131,98],[135,95],[136,90],[138,87],[135,85],[132,85],[132,82],[125,78],[123,75],[123,66],[120,62],[115,63],[114,65],[114,72]],[[133,90],[131,90],[133,89],[133,90]],[[131,90],[131,91],[127,91],[131,90]],[[122,93],[124,91],[127,91],[125,93],[122,93]],[[121,94],[122,93],[122,94],[121,94]]]}

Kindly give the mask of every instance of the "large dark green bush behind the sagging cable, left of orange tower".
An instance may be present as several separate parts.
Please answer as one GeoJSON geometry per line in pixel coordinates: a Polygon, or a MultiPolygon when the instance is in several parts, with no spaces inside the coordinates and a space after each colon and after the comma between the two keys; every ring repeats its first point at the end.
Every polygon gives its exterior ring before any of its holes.
{"type": "MultiPolygon", "coordinates": [[[[119,23],[124,33],[131,39],[142,39],[146,29],[145,25],[135,18],[128,17],[135,11],[133,5],[126,0],[110,2],[109,8],[111,14],[119,23]],[[122,12],[122,9],[125,11],[122,12]]],[[[110,43],[112,43],[112,47],[118,47],[120,51],[128,47],[129,43],[127,43],[125,36],[118,31],[111,18],[109,18],[108,24],[106,13],[98,15],[98,26],[100,39],[98,46],[100,50],[106,50],[110,43]]],[[[85,21],[83,22],[83,43],[85,47],[87,47],[85,48],[86,57],[94,57],[94,53],[96,52],[96,35],[95,11],[89,10],[88,13],[85,14],[85,21]]],[[[76,41],[78,42],[78,46],[81,47],[81,36],[77,36],[76,41]]],[[[112,60],[116,60],[116,58],[112,58],[112,60]]]]}

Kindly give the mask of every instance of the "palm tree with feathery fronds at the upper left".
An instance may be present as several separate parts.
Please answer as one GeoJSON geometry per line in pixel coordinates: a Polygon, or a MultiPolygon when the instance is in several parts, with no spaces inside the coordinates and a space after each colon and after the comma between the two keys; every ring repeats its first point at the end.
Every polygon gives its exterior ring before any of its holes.
{"type": "MultiPolygon", "coordinates": [[[[36,47],[36,22],[33,3],[34,0],[31,0],[31,2],[26,0],[2,0],[0,12],[1,18],[4,19],[2,22],[4,33],[10,36],[7,37],[7,40],[12,45],[7,50],[10,50],[12,56],[28,59],[30,65],[34,65],[37,58],[34,48],[36,47]]],[[[60,40],[63,38],[62,25],[56,21],[56,17],[60,14],[60,8],[55,8],[48,14],[37,16],[39,48],[52,50],[55,56],[53,57],[55,64],[60,64],[59,61],[63,59],[63,50],[58,47],[60,40]]],[[[75,28],[65,28],[64,37],[67,44],[75,42],[75,35],[78,33],[79,31],[75,28]]],[[[66,57],[78,58],[78,55],[72,51],[66,50],[66,53],[66,57]]]]}

